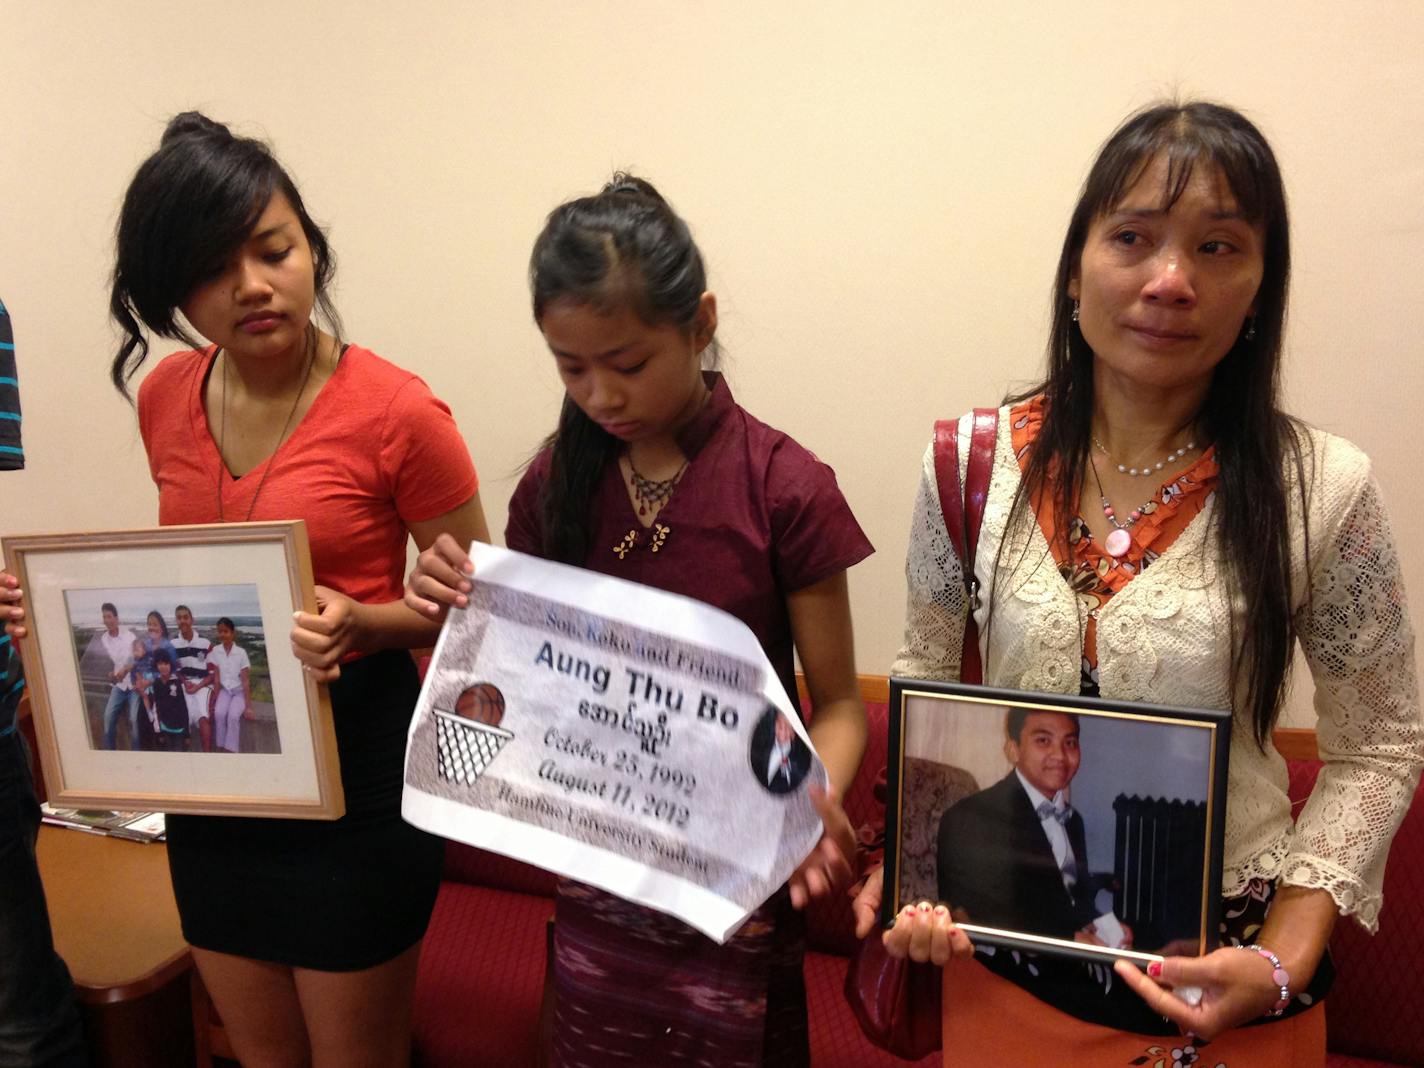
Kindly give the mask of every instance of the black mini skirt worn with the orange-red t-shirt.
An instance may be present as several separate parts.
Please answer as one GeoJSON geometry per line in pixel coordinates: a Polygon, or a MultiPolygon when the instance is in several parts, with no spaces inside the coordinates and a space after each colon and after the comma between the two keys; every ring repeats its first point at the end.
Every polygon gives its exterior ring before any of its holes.
{"type": "Polygon", "coordinates": [[[320,971],[382,964],[424,937],[444,842],[400,819],[420,681],[392,649],[330,685],[346,815],[169,816],[168,866],[191,946],[320,971]]]}

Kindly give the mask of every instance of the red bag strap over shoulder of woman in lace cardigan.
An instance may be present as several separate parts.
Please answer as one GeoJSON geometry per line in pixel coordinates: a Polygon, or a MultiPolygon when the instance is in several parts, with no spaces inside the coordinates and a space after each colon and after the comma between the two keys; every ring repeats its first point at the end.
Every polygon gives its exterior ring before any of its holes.
{"type": "Polygon", "coordinates": [[[978,534],[984,525],[984,501],[988,497],[988,480],[994,473],[994,443],[998,437],[998,409],[974,409],[970,429],[970,456],[964,466],[964,480],[960,480],[960,423],[957,419],[941,419],[934,424],[934,480],[940,491],[940,511],[944,515],[944,530],[960,558],[964,572],[964,590],[970,600],[970,617],[964,625],[964,649],[960,656],[960,679],[983,682],[984,665],[980,662],[978,624],[974,611],[980,607],[980,581],[974,572],[978,557],[978,534]]]}

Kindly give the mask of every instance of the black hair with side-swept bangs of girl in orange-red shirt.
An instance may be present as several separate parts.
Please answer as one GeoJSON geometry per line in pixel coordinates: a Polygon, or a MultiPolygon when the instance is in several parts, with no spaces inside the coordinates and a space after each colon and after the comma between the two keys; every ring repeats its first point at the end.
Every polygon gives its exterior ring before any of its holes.
{"type": "MultiPolygon", "coordinates": [[[[234,137],[202,112],[184,111],[168,121],[158,151],[140,165],[118,214],[108,310],[124,335],[110,367],[120,393],[130,397],[128,383],[148,359],[141,325],[202,346],[179,322],[178,309],[242,246],[278,192],[312,246],[316,310],[340,339],[340,318],[328,295],[336,258],[290,175],[261,141],[234,137]]],[[[315,343],[315,326],[309,335],[315,343]]]]}

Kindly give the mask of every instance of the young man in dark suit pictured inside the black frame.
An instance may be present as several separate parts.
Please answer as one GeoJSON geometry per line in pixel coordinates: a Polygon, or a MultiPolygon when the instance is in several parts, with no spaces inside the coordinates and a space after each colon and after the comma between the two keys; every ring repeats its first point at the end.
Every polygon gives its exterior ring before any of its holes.
{"type": "Polygon", "coordinates": [[[1012,770],[940,817],[940,897],[964,923],[1131,947],[1131,930],[1094,901],[1082,815],[1068,805],[1078,716],[1014,708],[1004,729],[1012,770]]]}

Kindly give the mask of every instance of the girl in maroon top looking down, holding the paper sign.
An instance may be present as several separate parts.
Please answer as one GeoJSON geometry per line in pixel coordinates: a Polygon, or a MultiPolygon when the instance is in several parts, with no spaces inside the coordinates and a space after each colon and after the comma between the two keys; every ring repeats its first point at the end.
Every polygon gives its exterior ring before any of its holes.
{"type": "MultiPolygon", "coordinates": [[[[832,782],[820,844],[725,946],[561,880],[551,1062],[807,1064],[796,909],[849,879],[854,839],[836,799],[860,763],[866,719],[846,568],[870,543],[832,470],[703,372],[716,298],[686,224],[651,185],[618,175],[557,208],[530,278],[567,396],[514,491],[506,543],[732,612],[793,701],[795,648],[832,782]]],[[[463,607],[470,567],[453,538],[437,538],[407,604],[430,615],[463,607]]]]}

